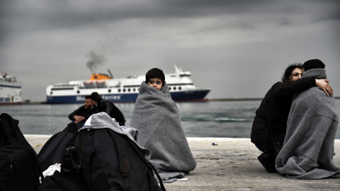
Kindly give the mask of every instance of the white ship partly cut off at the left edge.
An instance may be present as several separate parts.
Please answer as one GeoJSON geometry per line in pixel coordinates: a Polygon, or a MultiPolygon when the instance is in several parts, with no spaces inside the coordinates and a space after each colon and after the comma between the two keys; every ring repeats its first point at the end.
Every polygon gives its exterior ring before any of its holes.
{"type": "Polygon", "coordinates": [[[0,105],[21,104],[21,83],[16,77],[0,74],[0,105]]]}

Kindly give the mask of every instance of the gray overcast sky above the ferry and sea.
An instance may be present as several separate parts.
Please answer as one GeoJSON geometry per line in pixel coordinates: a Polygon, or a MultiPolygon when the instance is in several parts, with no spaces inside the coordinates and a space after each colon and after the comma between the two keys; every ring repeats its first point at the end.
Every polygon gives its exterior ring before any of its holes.
{"type": "Polygon", "coordinates": [[[0,71],[23,99],[89,79],[191,71],[208,98],[262,98],[288,64],[321,59],[340,96],[340,1],[0,0],[0,71]]]}

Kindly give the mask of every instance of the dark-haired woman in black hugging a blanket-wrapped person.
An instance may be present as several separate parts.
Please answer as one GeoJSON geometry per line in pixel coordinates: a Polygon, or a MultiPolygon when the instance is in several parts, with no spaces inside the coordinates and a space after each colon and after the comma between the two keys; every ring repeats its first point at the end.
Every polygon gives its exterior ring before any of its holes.
{"type": "Polygon", "coordinates": [[[302,64],[288,66],[282,81],[278,81],[269,89],[261,101],[259,109],[256,110],[250,138],[251,142],[263,152],[258,159],[268,173],[276,172],[274,141],[280,145],[283,144],[294,94],[318,86],[327,96],[333,95],[333,89],[329,86],[327,79],[315,79],[314,77],[300,79],[301,75],[302,64]]]}

